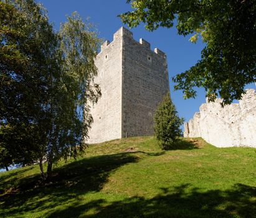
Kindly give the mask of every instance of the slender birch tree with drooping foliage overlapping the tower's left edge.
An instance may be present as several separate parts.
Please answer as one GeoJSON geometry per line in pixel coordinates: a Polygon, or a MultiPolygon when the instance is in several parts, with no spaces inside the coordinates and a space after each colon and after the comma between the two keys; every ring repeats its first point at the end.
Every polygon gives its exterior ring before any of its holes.
{"type": "Polygon", "coordinates": [[[50,130],[40,158],[44,175],[42,160],[47,157],[46,178],[52,173],[52,164],[60,158],[76,157],[86,147],[85,138],[93,121],[88,102],[96,103],[101,95],[93,83],[97,75],[94,59],[101,44],[97,31],[77,12],[67,19],[58,34],[61,73],[50,74],[50,130]]]}

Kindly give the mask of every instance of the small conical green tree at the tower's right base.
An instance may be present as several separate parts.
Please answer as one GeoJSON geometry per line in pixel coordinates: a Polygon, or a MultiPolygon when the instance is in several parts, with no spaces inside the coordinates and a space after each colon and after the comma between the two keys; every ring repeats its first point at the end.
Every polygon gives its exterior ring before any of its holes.
{"type": "Polygon", "coordinates": [[[184,119],[179,118],[171,101],[170,93],[167,93],[154,115],[154,135],[162,149],[174,148],[175,143],[179,141],[179,136],[181,136],[180,126],[183,122],[184,119]]]}

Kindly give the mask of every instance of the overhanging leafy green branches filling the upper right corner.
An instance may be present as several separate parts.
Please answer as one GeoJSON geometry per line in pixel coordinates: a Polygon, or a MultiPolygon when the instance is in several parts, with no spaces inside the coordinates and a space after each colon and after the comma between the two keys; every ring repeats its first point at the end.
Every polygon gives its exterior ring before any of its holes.
{"type": "Polygon", "coordinates": [[[201,36],[206,47],[201,60],[173,78],[175,90],[196,97],[194,87],[204,87],[213,101],[217,94],[224,104],[240,99],[244,87],[256,82],[255,0],[128,0],[135,11],[121,14],[125,24],[146,29],[171,28],[177,21],[178,34],[191,42],[201,36]]]}

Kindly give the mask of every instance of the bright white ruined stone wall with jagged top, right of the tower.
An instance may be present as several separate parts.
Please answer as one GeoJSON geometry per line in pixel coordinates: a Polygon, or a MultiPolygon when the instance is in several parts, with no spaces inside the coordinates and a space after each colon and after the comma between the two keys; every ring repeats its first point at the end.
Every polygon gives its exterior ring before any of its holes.
{"type": "Polygon", "coordinates": [[[204,103],[200,113],[184,125],[184,137],[202,137],[217,147],[250,146],[256,148],[256,93],[249,89],[239,103],[220,106],[204,103]]]}

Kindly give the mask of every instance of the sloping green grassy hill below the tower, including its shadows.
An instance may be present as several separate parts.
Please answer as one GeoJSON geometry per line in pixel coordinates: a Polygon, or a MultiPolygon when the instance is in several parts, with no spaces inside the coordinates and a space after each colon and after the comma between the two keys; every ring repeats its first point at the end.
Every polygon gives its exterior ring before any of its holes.
{"type": "Polygon", "coordinates": [[[90,146],[54,168],[0,173],[0,217],[256,217],[256,149],[201,138],[161,151],[153,137],[90,146]]]}

